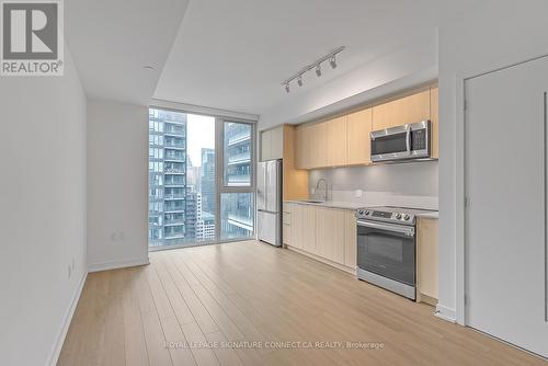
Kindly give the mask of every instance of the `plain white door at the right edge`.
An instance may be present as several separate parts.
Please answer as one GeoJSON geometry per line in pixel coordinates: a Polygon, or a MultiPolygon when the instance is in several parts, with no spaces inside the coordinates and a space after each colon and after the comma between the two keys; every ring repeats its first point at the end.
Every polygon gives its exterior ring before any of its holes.
{"type": "Polygon", "coordinates": [[[466,82],[466,321],[548,356],[548,58],[466,82]]]}

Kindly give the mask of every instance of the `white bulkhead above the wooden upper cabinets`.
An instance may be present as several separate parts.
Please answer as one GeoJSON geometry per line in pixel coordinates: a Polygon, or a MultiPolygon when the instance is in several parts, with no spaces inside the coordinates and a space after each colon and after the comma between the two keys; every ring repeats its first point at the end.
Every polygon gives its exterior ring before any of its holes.
{"type": "Polygon", "coordinates": [[[331,115],[437,78],[437,35],[424,34],[401,48],[311,89],[261,114],[259,129],[331,115]]]}

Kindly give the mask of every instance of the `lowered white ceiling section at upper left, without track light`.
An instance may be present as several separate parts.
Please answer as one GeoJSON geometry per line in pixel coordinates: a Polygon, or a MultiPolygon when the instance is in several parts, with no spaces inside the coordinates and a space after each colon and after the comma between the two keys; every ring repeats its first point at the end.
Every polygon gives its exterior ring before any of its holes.
{"type": "Polygon", "coordinates": [[[88,96],[148,105],[187,4],[65,1],[65,35],[88,96]]]}

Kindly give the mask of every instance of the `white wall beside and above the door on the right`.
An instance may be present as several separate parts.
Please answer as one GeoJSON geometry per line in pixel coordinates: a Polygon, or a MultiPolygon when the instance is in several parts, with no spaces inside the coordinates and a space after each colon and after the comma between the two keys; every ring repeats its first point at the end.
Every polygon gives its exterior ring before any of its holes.
{"type": "MultiPolygon", "coordinates": [[[[442,314],[463,322],[463,295],[457,271],[457,105],[463,78],[548,54],[548,2],[483,1],[439,28],[439,305],[442,314]],[[458,294],[458,296],[457,296],[458,294]]],[[[459,116],[459,117],[457,117],[459,116]]],[[[486,148],[496,148],[486,144],[486,148]]],[[[511,167],[509,167],[510,171],[511,167]]],[[[499,253],[500,254],[500,253],[499,253]]]]}

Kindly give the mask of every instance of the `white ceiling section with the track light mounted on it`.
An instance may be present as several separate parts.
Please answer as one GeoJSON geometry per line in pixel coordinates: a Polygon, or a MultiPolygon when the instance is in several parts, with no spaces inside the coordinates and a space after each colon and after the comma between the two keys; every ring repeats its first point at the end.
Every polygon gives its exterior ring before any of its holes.
{"type": "MultiPolygon", "coordinates": [[[[163,0],[167,1],[167,0],[163,0]]],[[[381,58],[468,9],[477,0],[194,0],[176,35],[155,98],[261,114],[361,65],[381,58]],[[346,46],[339,67],[281,82],[346,46]]]]}

